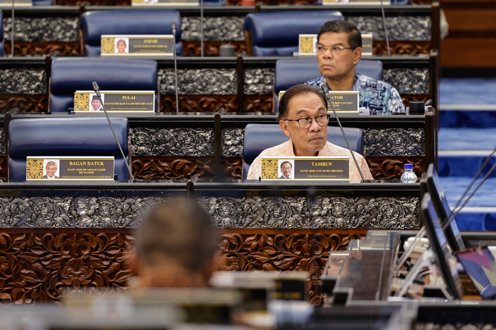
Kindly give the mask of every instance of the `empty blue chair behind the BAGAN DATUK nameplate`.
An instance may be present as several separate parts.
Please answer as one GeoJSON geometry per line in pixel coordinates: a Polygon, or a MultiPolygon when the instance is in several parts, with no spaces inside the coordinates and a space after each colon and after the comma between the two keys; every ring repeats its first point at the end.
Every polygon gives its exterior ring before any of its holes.
{"type": "MultiPolygon", "coordinates": [[[[127,118],[111,117],[111,121],[128,155],[127,118]]],[[[8,156],[10,182],[26,180],[27,156],[114,156],[118,180],[129,178],[106,117],[13,119],[8,125],[8,156]]]]}

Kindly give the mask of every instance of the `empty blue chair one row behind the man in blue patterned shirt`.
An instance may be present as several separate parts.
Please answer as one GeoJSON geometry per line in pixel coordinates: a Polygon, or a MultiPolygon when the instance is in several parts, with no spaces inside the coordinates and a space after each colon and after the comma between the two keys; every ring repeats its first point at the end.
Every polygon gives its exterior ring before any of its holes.
{"type": "Polygon", "coordinates": [[[327,21],[343,20],[337,10],[250,13],[243,28],[250,32],[253,56],[293,56],[298,35],[316,34],[327,21]]]}

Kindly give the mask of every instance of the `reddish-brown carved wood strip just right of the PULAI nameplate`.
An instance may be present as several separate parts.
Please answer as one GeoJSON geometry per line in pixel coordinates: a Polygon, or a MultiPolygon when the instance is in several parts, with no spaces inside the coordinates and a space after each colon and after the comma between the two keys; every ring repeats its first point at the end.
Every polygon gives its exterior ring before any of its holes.
{"type": "MultiPolygon", "coordinates": [[[[179,111],[214,112],[238,110],[237,95],[179,95],[179,111]]],[[[176,112],[176,95],[160,95],[159,112],[176,112]]]]}

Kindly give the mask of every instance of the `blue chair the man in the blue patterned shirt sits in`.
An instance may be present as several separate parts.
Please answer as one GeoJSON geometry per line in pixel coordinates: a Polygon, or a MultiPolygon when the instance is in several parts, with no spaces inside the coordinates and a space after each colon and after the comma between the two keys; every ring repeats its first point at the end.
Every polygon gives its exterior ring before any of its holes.
{"type": "MultiPolygon", "coordinates": [[[[358,74],[382,79],[382,62],[362,59],[355,70],[358,74]]],[[[274,112],[278,113],[279,92],[292,86],[304,84],[310,79],[320,76],[316,58],[279,59],[276,62],[276,78],[274,82],[274,112]]]]}

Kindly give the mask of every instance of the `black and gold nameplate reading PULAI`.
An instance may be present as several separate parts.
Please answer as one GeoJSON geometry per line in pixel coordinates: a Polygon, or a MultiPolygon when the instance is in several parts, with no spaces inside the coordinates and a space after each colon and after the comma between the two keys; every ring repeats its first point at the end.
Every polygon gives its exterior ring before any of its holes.
{"type": "MultiPolygon", "coordinates": [[[[155,92],[153,91],[102,91],[103,104],[107,112],[149,113],[155,112],[155,92]]],[[[74,112],[104,112],[102,102],[93,91],[74,93],[74,112]]]]}

